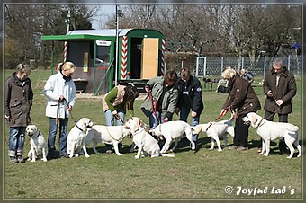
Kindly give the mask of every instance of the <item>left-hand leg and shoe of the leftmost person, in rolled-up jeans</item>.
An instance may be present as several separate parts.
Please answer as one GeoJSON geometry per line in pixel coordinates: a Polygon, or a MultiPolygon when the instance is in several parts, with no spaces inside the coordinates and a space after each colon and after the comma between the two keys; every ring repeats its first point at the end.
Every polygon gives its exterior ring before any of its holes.
{"type": "Polygon", "coordinates": [[[8,137],[8,156],[10,157],[11,163],[18,163],[16,158],[18,133],[19,133],[18,127],[10,128],[9,137],[8,137]]]}

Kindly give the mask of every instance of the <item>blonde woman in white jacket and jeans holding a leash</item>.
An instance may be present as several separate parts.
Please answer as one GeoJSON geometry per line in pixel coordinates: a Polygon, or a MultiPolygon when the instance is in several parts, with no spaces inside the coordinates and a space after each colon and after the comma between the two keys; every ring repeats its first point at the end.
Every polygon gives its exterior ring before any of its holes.
{"type": "Polygon", "coordinates": [[[67,126],[76,100],[76,85],[71,77],[75,72],[71,62],[59,63],[58,73],[51,75],[43,87],[47,97],[46,116],[49,117],[48,159],[55,158],[55,139],[59,124],[59,157],[67,158],[67,126]]]}

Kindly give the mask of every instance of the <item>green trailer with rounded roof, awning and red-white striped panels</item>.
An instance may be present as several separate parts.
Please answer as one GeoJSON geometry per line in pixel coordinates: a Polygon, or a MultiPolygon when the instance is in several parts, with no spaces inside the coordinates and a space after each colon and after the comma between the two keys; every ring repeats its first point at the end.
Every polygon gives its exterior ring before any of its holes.
{"type": "MultiPolygon", "coordinates": [[[[76,65],[73,78],[82,93],[104,94],[115,84],[130,82],[142,88],[149,78],[165,73],[165,41],[160,31],[119,29],[118,52],[116,29],[69,31],[41,36],[41,40],[63,42],[64,61],[76,65]]],[[[54,51],[54,66],[53,55],[54,51]]]]}

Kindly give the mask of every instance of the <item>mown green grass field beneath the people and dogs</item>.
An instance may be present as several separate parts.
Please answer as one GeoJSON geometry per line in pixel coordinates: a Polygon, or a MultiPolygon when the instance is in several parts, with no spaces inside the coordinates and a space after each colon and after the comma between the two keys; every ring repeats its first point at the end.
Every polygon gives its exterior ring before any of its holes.
{"type": "MultiPolygon", "coordinates": [[[[5,77],[11,72],[5,72],[5,77]]],[[[44,136],[48,137],[49,119],[45,117],[46,99],[42,95],[43,80],[50,71],[32,71],[34,104],[31,119],[44,136]]],[[[256,84],[259,82],[257,78],[256,84]]],[[[301,79],[297,78],[298,94],[293,99],[291,123],[301,128],[302,106],[301,79]]],[[[262,107],[265,95],[262,87],[255,87],[262,107]]],[[[218,117],[226,94],[203,89],[205,109],[201,123],[218,117]]],[[[135,115],[148,123],[139,106],[135,115]]],[[[264,110],[258,114],[264,115],[264,110]]],[[[73,117],[88,117],[96,124],[104,123],[101,97],[76,99],[73,117]]],[[[226,115],[224,119],[228,119],[226,115]]],[[[175,115],[175,119],[178,117],[175,115]]],[[[277,119],[276,119],[277,120],[277,119]]],[[[69,129],[74,125],[70,119],[69,129]]],[[[189,146],[179,147],[175,158],[141,158],[135,160],[129,153],[131,139],[123,140],[123,156],[105,154],[104,145],[94,154],[89,146],[89,158],[80,156],[72,159],[55,159],[47,163],[37,161],[10,164],[7,157],[8,128],[4,126],[4,199],[302,199],[302,158],[286,159],[272,142],[271,155],[257,154],[260,138],[253,128],[249,130],[249,150],[233,152],[217,148],[209,150],[211,140],[200,134],[200,150],[194,154],[189,146]],[[231,190],[232,189],[232,190],[231,190]],[[227,191],[227,192],[226,192],[227,191]],[[231,192],[230,192],[231,191],[231,192]],[[251,194],[247,194],[251,191],[251,194]],[[255,194],[255,191],[257,193],[255,194]],[[259,194],[258,194],[259,193],[259,194]]],[[[302,144],[302,137],[301,144],[302,144]]],[[[26,137],[24,157],[30,149],[26,137]]],[[[223,140],[221,140],[223,144],[223,140]]],[[[229,145],[232,138],[229,137],[229,145]]],[[[58,146],[58,140],[57,140],[58,146]]],[[[302,154],[303,156],[303,154],[302,154]]]]}

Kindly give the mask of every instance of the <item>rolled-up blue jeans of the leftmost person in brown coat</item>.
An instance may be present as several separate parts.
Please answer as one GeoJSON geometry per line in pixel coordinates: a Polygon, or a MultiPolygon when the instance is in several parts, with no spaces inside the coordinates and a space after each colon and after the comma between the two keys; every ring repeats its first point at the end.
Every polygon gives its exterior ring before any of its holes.
{"type": "Polygon", "coordinates": [[[11,127],[8,137],[8,155],[23,155],[23,146],[26,127],[11,127]]]}

